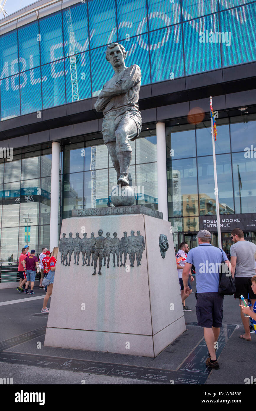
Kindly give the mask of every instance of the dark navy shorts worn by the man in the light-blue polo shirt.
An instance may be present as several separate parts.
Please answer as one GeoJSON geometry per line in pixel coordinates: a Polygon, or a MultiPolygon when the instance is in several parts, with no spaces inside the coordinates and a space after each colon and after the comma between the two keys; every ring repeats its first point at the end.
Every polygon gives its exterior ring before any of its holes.
{"type": "Polygon", "coordinates": [[[222,326],[224,296],[219,293],[198,293],[196,317],[198,326],[220,328],[222,326]]]}

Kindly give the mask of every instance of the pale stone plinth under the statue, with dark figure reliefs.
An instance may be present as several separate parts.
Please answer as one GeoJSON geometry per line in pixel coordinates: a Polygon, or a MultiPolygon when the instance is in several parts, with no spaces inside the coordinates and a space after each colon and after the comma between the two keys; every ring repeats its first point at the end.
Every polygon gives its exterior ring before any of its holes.
{"type": "MultiPolygon", "coordinates": [[[[103,265],[101,275],[99,259],[97,275],[94,267],[74,264],[74,252],[70,266],[60,264],[58,253],[50,313],[48,316],[46,346],[106,351],[155,357],[168,344],[185,331],[185,320],[180,298],[180,285],[176,268],[173,237],[170,223],[144,214],[104,215],[68,218],[62,221],[62,233],[80,233],[87,237],[103,231],[117,238],[127,231],[128,248],[134,267],[130,267],[129,254],[126,265],[113,267],[110,254],[109,268],[103,265]],[[135,232],[131,236],[131,230],[135,232]],[[143,239],[137,239],[137,231],[143,239]],[[164,234],[169,243],[166,256],[161,257],[159,236],[164,234]],[[141,265],[137,266],[141,257],[141,265]]],[[[116,242],[115,242],[116,244],[116,242]]],[[[115,250],[115,249],[114,249],[115,250]]],[[[109,251],[109,248],[108,248],[109,251]]],[[[97,248],[95,248],[95,254],[97,248]]],[[[86,254],[85,254],[86,255],[86,254]]],[[[69,260],[69,254],[67,255],[69,260]]],[[[124,263],[124,254],[122,254],[124,263]]],[[[120,264],[120,261],[119,261],[120,264]]]]}

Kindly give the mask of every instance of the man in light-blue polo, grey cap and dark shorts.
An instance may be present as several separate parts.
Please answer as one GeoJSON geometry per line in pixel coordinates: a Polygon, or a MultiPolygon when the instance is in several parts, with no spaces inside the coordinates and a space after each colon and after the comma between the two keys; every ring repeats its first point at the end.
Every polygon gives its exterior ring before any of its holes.
{"type": "Polygon", "coordinates": [[[218,293],[219,273],[221,269],[231,275],[231,264],[224,251],[210,244],[211,233],[207,230],[198,232],[198,247],[192,248],[188,254],[182,272],[184,293],[189,295],[187,285],[192,265],[196,268],[196,316],[198,326],[203,327],[203,335],[209,350],[206,365],[219,369],[214,344],[219,338],[222,326],[222,307],[224,296],[218,293]],[[225,267],[224,264],[227,265],[225,267]],[[226,268],[226,269],[225,269],[226,268]],[[230,271],[229,271],[229,270],[230,271]]]}

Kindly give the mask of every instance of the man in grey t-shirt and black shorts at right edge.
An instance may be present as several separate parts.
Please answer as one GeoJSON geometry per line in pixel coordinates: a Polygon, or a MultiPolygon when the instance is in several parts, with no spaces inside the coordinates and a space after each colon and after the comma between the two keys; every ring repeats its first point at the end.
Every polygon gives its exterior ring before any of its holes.
{"type": "MultiPolygon", "coordinates": [[[[256,301],[256,295],[251,289],[251,277],[255,275],[255,259],[256,245],[253,242],[244,240],[244,233],[241,229],[234,229],[231,233],[234,244],[230,247],[232,275],[235,275],[235,298],[244,296],[248,303],[248,295],[251,299],[252,307],[256,301]]],[[[251,341],[249,317],[245,317],[241,309],[241,318],[244,326],[245,334],[240,335],[240,338],[251,341]]]]}

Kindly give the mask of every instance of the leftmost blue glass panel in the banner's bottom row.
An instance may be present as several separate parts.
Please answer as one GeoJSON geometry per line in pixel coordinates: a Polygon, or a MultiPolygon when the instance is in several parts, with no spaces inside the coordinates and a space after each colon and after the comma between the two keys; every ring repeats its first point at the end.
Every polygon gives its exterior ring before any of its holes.
{"type": "Polygon", "coordinates": [[[0,81],[1,120],[21,115],[19,75],[0,81]]]}

